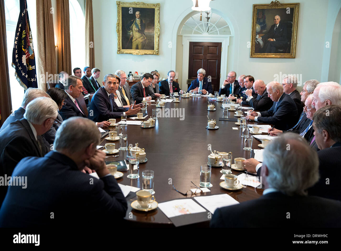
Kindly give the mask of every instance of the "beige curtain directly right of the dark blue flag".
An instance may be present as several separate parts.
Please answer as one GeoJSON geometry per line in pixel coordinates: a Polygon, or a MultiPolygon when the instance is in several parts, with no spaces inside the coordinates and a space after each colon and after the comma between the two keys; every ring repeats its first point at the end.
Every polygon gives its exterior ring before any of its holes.
{"type": "Polygon", "coordinates": [[[37,9],[37,47],[39,54],[37,58],[38,88],[46,91],[48,74],[57,73],[55,35],[53,28],[53,17],[51,15],[51,1],[36,0],[37,9]],[[47,75],[46,75],[47,72],[47,75]],[[45,76],[42,78],[42,76],[45,76]]]}

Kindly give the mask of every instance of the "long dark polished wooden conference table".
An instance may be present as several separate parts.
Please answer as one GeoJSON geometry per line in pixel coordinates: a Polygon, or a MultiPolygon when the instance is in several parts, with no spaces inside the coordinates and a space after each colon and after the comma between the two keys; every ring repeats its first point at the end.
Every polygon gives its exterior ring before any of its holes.
{"type": "MultiPolygon", "coordinates": [[[[222,117],[223,113],[223,109],[220,108],[222,102],[210,101],[210,103],[216,106],[216,111],[208,111],[208,97],[180,97],[179,100],[180,102],[178,103],[166,102],[163,108],[158,109],[181,109],[181,118],[158,117],[155,127],[152,128],[141,128],[138,125],[123,126],[123,134],[128,135],[128,146],[135,146],[135,143],[138,143],[138,147],[145,149],[148,161],[139,164],[140,177],[138,179],[129,179],[127,178],[129,171],[122,171],[123,177],[118,179],[117,182],[142,189],[142,171],[153,170],[154,196],[158,203],[179,198],[184,199],[194,196],[223,193],[232,196],[239,202],[260,197],[263,193],[263,189],[255,189],[251,186],[243,187],[241,190],[234,192],[222,189],[219,186],[219,183],[223,181],[220,179],[222,176],[222,173],[220,173],[221,167],[212,167],[211,169],[211,184],[213,184],[213,186],[209,188],[211,192],[184,196],[174,190],[172,184],[182,193],[186,193],[186,191],[193,188],[191,187],[193,186],[191,181],[199,186],[200,166],[204,164],[207,165],[207,158],[211,153],[208,150],[209,145],[211,145],[212,151],[232,152],[233,159],[237,157],[250,158],[254,156],[253,151],[243,150],[244,143],[243,138],[241,137],[240,127],[235,125],[235,122],[232,121],[219,121],[219,117],[222,117]],[[219,129],[206,129],[208,121],[207,115],[210,119],[217,121],[219,129]],[[232,127],[238,127],[238,130],[233,130],[232,127]]],[[[153,104],[147,107],[148,117],[146,117],[145,120],[152,115],[152,109],[156,109],[153,104]]],[[[233,111],[228,112],[228,117],[236,118],[233,111]]],[[[131,119],[128,118],[128,120],[131,119]]],[[[120,119],[118,119],[117,122],[118,121],[120,121],[120,119]]],[[[257,122],[250,123],[257,124],[257,122]]],[[[115,127],[110,130],[114,129],[115,127]]],[[[100,145],[105,145],[110,142],[113,141],[104,139],[100,145]]],[[[118,149],[119,141],[114,141],[114,143],[116,143],[116,149],[118,149]]],[[[261,149],[257,146],[260,143],[260,141],[253,138],[252,149],[261,149]]],[[[107,157],[106,161],[123,160],[126,159],[127,155],[130,155],[129,151],[119,151],[118,157],[107,157]]],[[[234,160],[232,160],[232,163],[234,163],[234,160]]],[[[232,173],[238,175],[240,172],[232,170],[232,173]]],[[[132,209],[131,203],[134,200],[136,200],[135,194],[134,197],[127,199],[128,210],[124,218],[127,225],[142,227],[174,227],[172,221],[169,220],[159,208],[148,212],[132,209]]],[[[190,226],[208,227],[209,221],[210,220],[208,219],[206,222],[195,223],[190,226]]]]}

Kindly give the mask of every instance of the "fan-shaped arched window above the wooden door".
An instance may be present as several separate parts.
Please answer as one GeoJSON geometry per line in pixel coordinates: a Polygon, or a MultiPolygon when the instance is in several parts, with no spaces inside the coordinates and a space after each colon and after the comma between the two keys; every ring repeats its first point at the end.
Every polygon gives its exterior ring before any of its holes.
{"type": "Polygon", "coordinates": [[[184,23],[180,34],[231,35],[228,24],[220,15],[204,12],[200,21],[200,13],[194,13],[184,23]]]}

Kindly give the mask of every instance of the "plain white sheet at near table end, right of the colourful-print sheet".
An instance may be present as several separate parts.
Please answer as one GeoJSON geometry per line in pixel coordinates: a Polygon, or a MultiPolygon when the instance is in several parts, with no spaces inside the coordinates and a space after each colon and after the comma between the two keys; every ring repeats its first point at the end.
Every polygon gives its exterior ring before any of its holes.
{"type": "Polygon", "coordinates": [[[217,208],[239,204],[237,200],[227,194],[197,196],[194,199],[213,214],[217,208]]]}

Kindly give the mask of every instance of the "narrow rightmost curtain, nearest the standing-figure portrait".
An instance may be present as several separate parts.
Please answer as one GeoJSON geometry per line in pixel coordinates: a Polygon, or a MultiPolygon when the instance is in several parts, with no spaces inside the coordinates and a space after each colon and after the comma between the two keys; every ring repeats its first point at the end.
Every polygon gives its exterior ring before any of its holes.
{"type": "Polygon", "coordinates": [[[85,1],[85,65],[95,67],[92,0],[85,1]]]}

